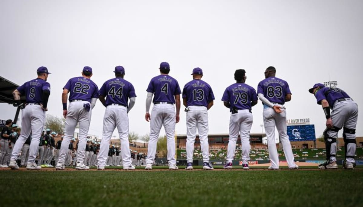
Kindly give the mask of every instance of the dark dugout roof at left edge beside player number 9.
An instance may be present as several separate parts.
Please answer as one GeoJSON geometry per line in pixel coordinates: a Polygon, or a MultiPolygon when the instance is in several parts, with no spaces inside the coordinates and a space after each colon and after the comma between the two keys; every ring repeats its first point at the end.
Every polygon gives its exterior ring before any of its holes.
{"type": "MultiPolygon", "coordinates": [[[[13,91],[17,87],[19,87],[17,84],[0,76],[0,103],[15,104],[13,91]]],[[[24,103],[25,95],[21,96],[20,100],[24,103]]]]}

